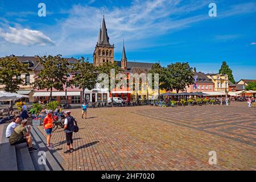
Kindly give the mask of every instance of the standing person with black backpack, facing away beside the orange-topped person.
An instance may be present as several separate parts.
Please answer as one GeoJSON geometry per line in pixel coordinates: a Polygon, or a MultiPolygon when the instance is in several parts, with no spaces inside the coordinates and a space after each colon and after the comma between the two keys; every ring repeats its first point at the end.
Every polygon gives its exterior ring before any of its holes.
{"type": "Polygon", "coordinates": [[[75,119],[71,116],[71,111],[65,111],[65,122],[64,122],[64,132],[66,135],[66,142],[67,142],[67,151],[64,154],[69,154],[74,151],[73,148],[73,131],[74,131],[74,123],[77,125],[75,119]]]}

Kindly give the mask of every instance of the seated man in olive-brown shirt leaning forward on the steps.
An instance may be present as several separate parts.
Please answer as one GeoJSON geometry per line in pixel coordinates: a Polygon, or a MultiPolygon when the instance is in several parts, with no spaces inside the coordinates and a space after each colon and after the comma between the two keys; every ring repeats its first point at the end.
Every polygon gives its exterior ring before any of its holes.
{"type": "Polygon", "coordinates": [[[32,137],[30,135],[31,126],[28,126],[28,131],[26,129],[27,119],[23,119],[21,124],[15,127],[13,133],[9,138],[9,143],[11,145],[27,143],[28,151],[37,151],[38,148],[32,146],[32,137]]]}

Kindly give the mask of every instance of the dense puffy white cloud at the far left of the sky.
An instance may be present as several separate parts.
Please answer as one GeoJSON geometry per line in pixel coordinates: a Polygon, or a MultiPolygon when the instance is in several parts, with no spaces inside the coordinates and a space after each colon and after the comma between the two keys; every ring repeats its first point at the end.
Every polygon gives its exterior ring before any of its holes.
{"type": "Polygon", "coordinates": [[[46,46],[53,45],[53,41],[48,38],[43,32],[37,30],[16,29],[9,27],[10,32],[2,32],[0,30],[0,36],[6,40],[6,42],[20,44],[22,46],[46,46]]]}

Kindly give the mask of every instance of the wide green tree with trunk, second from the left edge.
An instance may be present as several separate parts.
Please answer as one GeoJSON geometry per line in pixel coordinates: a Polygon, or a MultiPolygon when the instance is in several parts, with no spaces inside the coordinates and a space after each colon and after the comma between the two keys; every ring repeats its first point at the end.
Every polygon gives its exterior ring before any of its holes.
{"type": "Polygon", "coordinates": [[[43,69],[35,76],[34,88],[50,90],[49,100],[52,99],[52,89],[64,90],[63,85],[69,84],[68,73],[71,72],[69,63],[61,55],[43,56],[38,58],[43,69]]]}

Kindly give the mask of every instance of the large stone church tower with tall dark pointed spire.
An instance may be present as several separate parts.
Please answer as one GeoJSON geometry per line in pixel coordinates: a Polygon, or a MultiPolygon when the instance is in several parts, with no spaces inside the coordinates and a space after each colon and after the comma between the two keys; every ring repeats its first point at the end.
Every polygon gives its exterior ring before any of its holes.
{"type": "Polygon", "coordinates": [[[93,52],[93,64],[114,63],[114,44],[109,43],[108,30],[103,16],[102,26],[98,35],[98,42],[93,52]]]}

